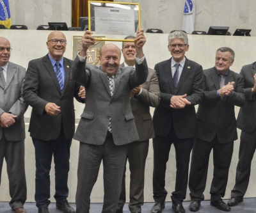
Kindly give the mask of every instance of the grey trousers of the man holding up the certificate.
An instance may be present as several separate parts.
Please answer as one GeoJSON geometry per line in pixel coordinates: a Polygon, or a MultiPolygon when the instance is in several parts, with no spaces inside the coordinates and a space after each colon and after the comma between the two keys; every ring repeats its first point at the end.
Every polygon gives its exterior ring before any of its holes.
{"type": "Polygon", "coordinates": [[[90,195],[98,177],[101,161],[103,161],[104,170],[102,213],[116,212],[127,151],[127,145],[116,146],[112,137],[107,137],[103,145],[91,145],[80,142],[77,168],[77,213],[89,213],[90,195]]]}

